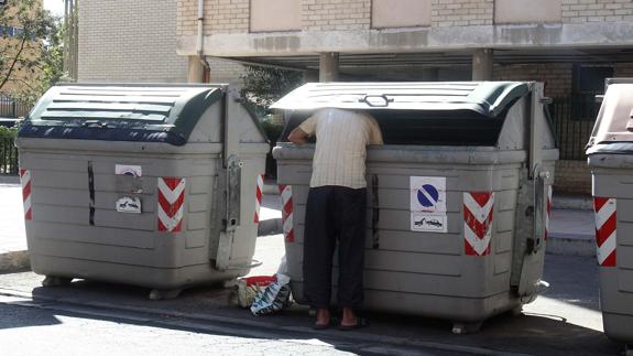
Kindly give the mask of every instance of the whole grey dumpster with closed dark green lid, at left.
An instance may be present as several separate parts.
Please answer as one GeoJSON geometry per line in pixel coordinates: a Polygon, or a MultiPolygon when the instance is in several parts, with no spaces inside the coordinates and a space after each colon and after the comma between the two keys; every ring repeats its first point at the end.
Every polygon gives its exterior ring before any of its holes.
{"type": "Polygon", "coordinates": [[[152,289],[245,274],[269,150],[226,85],[62,85],[17,145],[31,266],[152,289]]]}

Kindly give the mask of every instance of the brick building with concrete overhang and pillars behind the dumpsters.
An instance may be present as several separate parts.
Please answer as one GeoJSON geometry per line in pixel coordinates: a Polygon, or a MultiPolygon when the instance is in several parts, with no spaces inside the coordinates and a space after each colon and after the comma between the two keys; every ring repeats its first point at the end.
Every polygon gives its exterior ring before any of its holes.
{"type": "Polygon", "coordinates": [[[560,191],[589,192],[593,98],[633,76],[633,0],[178,0],[176,29],[179,55],[313,80],[544,82],[560,191]]]}

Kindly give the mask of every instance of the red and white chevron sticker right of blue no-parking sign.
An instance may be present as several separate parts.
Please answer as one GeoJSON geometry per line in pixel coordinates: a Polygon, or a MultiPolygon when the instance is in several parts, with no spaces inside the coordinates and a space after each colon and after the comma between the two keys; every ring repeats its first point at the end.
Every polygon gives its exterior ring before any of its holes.
{"type": "Polygon", "coordinates": [[[493,207],[493,192],[463,193],[463,246],[466,255],[490,255],[493,207]]]}

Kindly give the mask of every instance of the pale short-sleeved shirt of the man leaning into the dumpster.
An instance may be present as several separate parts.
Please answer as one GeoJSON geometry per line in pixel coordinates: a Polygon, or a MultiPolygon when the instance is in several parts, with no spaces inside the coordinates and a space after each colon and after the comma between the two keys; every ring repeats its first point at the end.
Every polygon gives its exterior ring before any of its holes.
{"type": "Polygon", "coordinates": [[[382,144],[382,133],[368,114],[335,108],[320,109],[299,128],[316,134],[310,187],[340,185],[367,186],[364,161],[368,144],[382,144]]]}

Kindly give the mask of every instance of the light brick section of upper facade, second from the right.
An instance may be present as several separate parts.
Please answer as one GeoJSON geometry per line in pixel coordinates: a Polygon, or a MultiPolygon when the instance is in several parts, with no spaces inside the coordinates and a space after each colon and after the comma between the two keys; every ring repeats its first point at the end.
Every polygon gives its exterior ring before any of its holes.
{"type": "Polygon", "coordinates": [[[433,0],[433,26],[472,26],[492,24],[494,0],[433,0]]]}

